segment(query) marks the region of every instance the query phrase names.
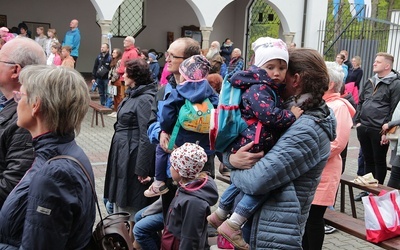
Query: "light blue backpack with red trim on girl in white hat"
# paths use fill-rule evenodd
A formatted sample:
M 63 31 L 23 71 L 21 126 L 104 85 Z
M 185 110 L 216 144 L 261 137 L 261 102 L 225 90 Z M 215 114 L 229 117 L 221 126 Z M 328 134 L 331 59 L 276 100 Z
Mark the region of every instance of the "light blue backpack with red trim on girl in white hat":
M 235 88 L 225 75 L 217 109 L 211 113 L 210 148 L 218 152 L 225 149 L 247 128 L 242 118 L 239 104 L 242 100 L 241 89 Z

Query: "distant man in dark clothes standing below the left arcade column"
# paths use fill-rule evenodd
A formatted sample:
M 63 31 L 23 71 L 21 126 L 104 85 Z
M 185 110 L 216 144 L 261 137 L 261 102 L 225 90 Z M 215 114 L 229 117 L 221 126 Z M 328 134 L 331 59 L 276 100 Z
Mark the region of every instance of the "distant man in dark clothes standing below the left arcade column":
M 97 83 L 100 95 L 100 104 L 105 106 L 107 101 L 108 72 L 110 71 L 110 46 L 103 43 L 100 47 L 100 54 L 94 62 L 92 71 L 92 84 Z

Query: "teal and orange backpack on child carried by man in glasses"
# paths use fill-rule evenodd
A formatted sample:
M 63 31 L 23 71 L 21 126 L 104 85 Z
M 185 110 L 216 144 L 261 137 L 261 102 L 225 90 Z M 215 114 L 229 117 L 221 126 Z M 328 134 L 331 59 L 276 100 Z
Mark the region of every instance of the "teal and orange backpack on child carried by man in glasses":
M 174 148 L 175 140 L 181 127 L 187 131 L 208 134 L 210 132 L 211 112 L 213 109 L 214 106 L 208 98 L 204 99 L 202 103 L 192 103 L 186 99 L 185 104 L 179 110 L 168 149 L 172 150 Z

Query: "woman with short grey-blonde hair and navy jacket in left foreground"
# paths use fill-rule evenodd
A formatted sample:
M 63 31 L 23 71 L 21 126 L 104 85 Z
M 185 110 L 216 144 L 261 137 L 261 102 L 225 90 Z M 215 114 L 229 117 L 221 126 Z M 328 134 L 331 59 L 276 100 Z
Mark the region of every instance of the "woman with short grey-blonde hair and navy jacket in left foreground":
M 0 248 L 82 249 L 95 221 L 94 176 L 75 142 L 89 107 L 89 90 L 74 69 L 26 66 L 14 91 L 17 125 L 33 137 L 36 158 L 0 211 Z M 13 247 L 11 247 L 13 246 Z

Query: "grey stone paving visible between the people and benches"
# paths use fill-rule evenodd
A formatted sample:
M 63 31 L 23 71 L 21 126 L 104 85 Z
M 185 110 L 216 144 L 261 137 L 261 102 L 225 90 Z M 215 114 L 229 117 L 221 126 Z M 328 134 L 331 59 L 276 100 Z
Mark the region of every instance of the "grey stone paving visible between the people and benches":
M 94 125 L 94 127 L 91 127 L 92 112 L 93 110 L 90 108 L 82 124 L 81 132 L 76 138 L 76 141 L 84 149 L 84 151 L 86 152 L 92 163 L 96 178 L 95 180 L 96 191 L 99 198 L 100 207 L 102 210 L 102 215 L 105 216 L 106 211 L 102 203 L 103 187 L 104 187 L 105 171 L 107 166 L 108 151 L 114 133 L 113 125 L 116 121 L 116 118 L 104 115 L 105 127 L 102 127 L 101 123 L 99 124 L 99 126 Z M 357 140 L 356 131 L 355 129 L 352 129 L 345 173 L 353 176 L 356 176 L 357 172 L 358 150 L 359 150 L 359 143 Z M 218 167 L 218 164 L 216 164 L 216 167 Z M 216 173 L 217 172 L 218 170 L 216 170 Z M 390 173 L 388 172 L 388 174 Z M 386 177 L 386 181 L 388 178 L 389 176 Z M 219 180 L 217 180 L 217 184 L 219 192 L 220 194 L 222 194 L 222 192 L 227 187 L 227 184 L 222 183 Z M 358 194 L 357 190 L 355 190 L 354 192 L 355 195 Z M 348 203 L 349 199 L 346 198 L 346 201 Z M 362 204 L 361 202 L 358 202 L 356 205 L 357 205 L 358 217 L 362 218 L 364 213 Z M 340 204 L 338 197 L 338 202 L 336 203 L 337 209 L 339 209 L 339 206 Z M 350 204 L 346 204 L 346 213 L 350 214 Z M 382 249 L 382 248 L 337 230 L 334 233 L 325 236 L 323 249 L 370 250 L 370 249 Z

